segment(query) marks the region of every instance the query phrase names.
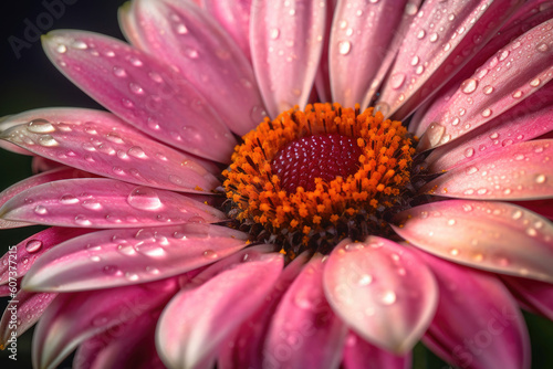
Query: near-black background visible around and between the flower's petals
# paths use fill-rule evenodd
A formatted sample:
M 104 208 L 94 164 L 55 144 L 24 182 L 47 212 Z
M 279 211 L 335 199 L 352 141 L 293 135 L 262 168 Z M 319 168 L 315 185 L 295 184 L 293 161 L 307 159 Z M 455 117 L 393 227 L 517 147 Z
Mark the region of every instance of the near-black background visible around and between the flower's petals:
M 117 25 L 117 8 L 124 0 L 15 0 L 3 1 L 0 9 L 0 117 L 23 110 L 48 106 L 100 106 L 73 86 L 52 66 L 42 52 L 32 24 L 42 33 L 54 29 L 81 29 L 123 39 Z M 55 9 L 46 4 L 63 4 Z M 25 33 L 27 32 L 27 33 Z M 15 40 L 15 38 L 18 40 Z M 25 48 L 15 51 L 10 44 L 24 42 Z M 27 48 L 28 46 L 28 48 Z M 18 55 L 19 53 L 19 55 Z M 0 189 L 31 173 L 30 159 L 0 149 Z M 15 229 L 0 232 L 0 252 L 30 236 L 32 230 Z M 6 298 L 1 299 L 6 304 Z M 532 368 L 553 368 L 553 324 L 525 314 L 532 339 Z M 459 317 L 462 319 L 462 317 Z M 18 341 L 18 361 L 8 359 L 9 351 L 0 351 L 0 368 L 31 368 L 31 333 Z M 71 361 L 60 368 L 69 368 Z M 449 368 L 429 354 L 422 346 L 416 348 L 416 368 Z

